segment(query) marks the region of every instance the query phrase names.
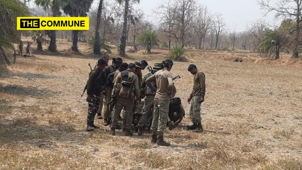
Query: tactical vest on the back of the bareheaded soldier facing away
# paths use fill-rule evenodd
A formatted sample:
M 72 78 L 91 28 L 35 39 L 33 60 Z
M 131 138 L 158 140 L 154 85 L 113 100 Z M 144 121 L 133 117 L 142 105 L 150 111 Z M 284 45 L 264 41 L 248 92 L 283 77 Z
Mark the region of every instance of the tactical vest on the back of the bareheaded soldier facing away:
M 122 71 L 121 74 L 125 72 Z M 126 70 L 126 72 L 128 72 Z M 122 74 L 123 75 L 123 74 Z M 135 94 L 134 94 L 134 79 L 137 77 L 136 74 L 133 72 L 128 72 L 128 76 L 121 76 L 122 79 L 122 87 L 120 88 L 120 93 L 118 96 L 124 97 L 124 98 L 129 98 L 129 99 L 134 99 Z

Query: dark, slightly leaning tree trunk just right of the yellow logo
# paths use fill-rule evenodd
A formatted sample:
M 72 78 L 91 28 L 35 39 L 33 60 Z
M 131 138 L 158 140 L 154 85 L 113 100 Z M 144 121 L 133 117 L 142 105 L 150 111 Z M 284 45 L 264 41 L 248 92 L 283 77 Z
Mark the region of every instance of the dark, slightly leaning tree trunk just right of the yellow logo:
M 101 54 L 100 47 L 100 25 L 101 25 L 101 14 L 102 14 L 103 0 L 100 0 L 98 5 L 98 14 L 96 17 L 95 25 L 95 44 L 93 45 L 93 54 Z

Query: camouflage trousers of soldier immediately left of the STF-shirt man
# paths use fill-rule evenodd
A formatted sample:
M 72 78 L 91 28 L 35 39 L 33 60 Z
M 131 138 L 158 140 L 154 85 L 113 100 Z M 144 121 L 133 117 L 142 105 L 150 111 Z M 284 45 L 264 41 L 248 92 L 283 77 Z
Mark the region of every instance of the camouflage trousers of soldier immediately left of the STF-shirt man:
M 143 113 L 138 123 L 138 126 L 141 128 L 146 128 L 149 125 L 150 117 L 152 117 L 151 110 L 154 107 L 154 97 L 155 95 L 146 95 Z

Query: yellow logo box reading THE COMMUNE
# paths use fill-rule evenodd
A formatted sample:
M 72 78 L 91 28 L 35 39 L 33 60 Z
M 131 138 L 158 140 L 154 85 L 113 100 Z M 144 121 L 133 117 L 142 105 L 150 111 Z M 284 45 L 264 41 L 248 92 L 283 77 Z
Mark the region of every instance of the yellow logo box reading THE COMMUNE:
M 17 17 L 17 30 L 89 30 L 89 17 Z

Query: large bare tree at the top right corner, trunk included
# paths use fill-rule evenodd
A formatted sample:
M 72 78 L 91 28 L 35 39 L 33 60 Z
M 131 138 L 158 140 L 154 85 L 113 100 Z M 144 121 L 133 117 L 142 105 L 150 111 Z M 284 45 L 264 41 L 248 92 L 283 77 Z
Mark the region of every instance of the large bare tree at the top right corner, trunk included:
M 269 0 L 258 0 L 258 4 L 264 10 L 264 14 L 267 15 L 271 11 L 275 11 L 275 18 L 291 19 L 296 21 L 295 26 L 295 44 L 293 50 L 293 57 L 298 58 L 299 54 L 299 37 L 300 37 L 300 21 L 301 21 L 301 10 L 302 0 L 278 0 L 274 6 L 269 4 Z

